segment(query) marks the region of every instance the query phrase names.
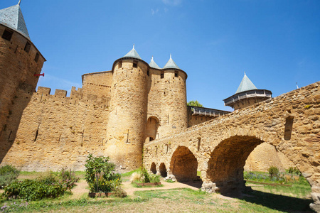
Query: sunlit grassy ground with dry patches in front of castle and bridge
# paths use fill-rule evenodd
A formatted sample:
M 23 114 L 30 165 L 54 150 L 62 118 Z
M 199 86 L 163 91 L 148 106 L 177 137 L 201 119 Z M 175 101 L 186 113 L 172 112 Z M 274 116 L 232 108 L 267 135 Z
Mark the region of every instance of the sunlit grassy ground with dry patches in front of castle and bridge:
M 38 175 L 41 173 L 21 173 L 18 179 Z M 77 175 L 83 178 L 84 173 Z M 123 176 L 129 179 L 130 174 Z M 252 185 L 253 191 L 240 198 L 186 188 L 161 190 L 161 187 L 150 187 L 150 190 L 136 191 L 126 198 L 89 198 L 83 191 L 77 196 L 68 192 L 58 199 L 35 202 L 2 199 L 0 212 L 311 212 L 309 203 L 312 200 L 305 185 L 248 184 Z

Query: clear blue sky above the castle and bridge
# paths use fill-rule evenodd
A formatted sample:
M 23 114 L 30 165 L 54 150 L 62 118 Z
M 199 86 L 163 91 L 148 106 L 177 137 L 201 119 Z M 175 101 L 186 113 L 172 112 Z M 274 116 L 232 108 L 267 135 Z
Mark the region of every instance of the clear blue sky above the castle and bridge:
M 1 0 L 0 9 L 18 0 Z M 172 58 L 187 99 L 230 110 L 244 72 L 273 97 L 320 80 L 320 1 L 22 0 L 31 40 L 48 60 L 38 86 L 70 91 L 111 70 L 135 44 L 146 62 Z M 68 92 L 68 95 L 70 93 Z

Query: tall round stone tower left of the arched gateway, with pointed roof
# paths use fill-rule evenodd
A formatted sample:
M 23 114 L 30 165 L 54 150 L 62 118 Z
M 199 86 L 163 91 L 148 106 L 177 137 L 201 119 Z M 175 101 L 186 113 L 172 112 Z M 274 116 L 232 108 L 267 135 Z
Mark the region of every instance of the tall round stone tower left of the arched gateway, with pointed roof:
M 110 116 L 106 153 L 122 168 L 142 166 L 149 65 L 133 48 L 112 67 Z

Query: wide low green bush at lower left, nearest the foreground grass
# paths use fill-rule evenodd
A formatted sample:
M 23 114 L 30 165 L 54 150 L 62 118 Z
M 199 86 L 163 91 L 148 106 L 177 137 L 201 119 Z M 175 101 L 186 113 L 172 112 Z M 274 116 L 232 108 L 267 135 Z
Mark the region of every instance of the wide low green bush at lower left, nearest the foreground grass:
M 59 197 L 65 190 L 66 188 L 59 182 L 47 184 L 45 181 L 27 179 L 4 187 L 3 195 L 6 199 L 41 200 L 46 197 Z

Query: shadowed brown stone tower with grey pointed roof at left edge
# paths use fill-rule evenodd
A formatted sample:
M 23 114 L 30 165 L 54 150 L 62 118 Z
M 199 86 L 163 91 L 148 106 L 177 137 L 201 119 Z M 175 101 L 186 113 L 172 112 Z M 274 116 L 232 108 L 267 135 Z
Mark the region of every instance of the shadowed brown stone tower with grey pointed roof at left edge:
M 0 10 L 0 162 L 46 61 L 30 39 L 20 3 Z

